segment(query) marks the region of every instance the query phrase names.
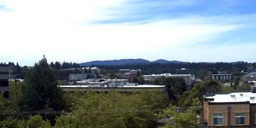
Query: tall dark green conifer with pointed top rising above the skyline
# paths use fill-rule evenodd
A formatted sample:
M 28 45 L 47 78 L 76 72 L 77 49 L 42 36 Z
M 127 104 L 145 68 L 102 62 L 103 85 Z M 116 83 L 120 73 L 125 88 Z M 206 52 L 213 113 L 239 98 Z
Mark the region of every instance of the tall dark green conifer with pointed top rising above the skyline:
M 63 92 L 57 87 L 57 81 L 46 58 L 35 63 L 25 77 L 20 97 L 22 111 L 61 111 Z

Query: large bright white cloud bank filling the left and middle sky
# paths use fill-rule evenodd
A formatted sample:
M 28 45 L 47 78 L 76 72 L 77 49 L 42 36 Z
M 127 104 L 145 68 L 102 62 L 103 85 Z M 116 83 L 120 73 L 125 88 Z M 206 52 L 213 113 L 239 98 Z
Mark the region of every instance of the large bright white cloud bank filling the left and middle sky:
M 46 54 L 49 61 L 77 62 L 162 58 L 159 55 L 168 54 L 168 50 L 208 41 L 241 27 L 240 24 L 221 25 L 218 20 L 202 24 L 202 20 L 208 19 L 201 17 L 137 25 L 88 24 L 113 18 L 110 15 L 113 11 L 107 8 L 130 7 L 124 5 L 126 2 L 8 1 L 6 7 L 14 12 L 0 12 L 1 47 L 5 48 L 0 51 L 0 57 L 8 56 L 6 61 L 19 61 L 21 65 L 33 65 L 42 54 Z

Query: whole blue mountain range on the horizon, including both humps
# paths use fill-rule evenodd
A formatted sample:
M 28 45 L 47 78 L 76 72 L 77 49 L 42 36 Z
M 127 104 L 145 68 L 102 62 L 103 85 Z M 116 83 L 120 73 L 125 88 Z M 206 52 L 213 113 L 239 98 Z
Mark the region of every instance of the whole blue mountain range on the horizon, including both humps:
M 186 63 L 177 60 L 168 61 L 165 59 L 158 59 L 155 61 L 148 61 L 145 59 L 119 59 L 119 60 L 96 60 L 90 62 L 81 63 L 82 66 L 92 66 L 92 65 L 106 65 L 106 66 L 118 66 L 118 65 L 131 65 L 131 64 L 141 64 L 141 63 Z

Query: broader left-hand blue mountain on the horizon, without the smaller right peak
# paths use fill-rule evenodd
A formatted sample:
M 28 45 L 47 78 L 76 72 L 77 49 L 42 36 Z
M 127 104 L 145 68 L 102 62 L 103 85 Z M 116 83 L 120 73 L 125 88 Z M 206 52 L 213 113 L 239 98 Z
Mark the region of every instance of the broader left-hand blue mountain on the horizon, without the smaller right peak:
M 96 60 L 90 62 L 81 63 L 82 66 L 92 66 L 92 65 L 106 65 L 106 66 L 118 66 L 118 65 L 129 65 L 129 64 L 139 64 L 139 63 L 150 63 L 150 61 L 145 59 L 119 59 L 119 60 Z

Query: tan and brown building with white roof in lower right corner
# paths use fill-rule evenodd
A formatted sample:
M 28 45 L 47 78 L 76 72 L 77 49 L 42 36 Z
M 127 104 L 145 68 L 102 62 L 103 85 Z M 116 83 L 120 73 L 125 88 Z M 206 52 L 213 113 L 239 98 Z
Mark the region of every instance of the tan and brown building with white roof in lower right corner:
M 208 127 L 256 127 L 256 87 L 251 92 L 203 96 L 203 122 Z

